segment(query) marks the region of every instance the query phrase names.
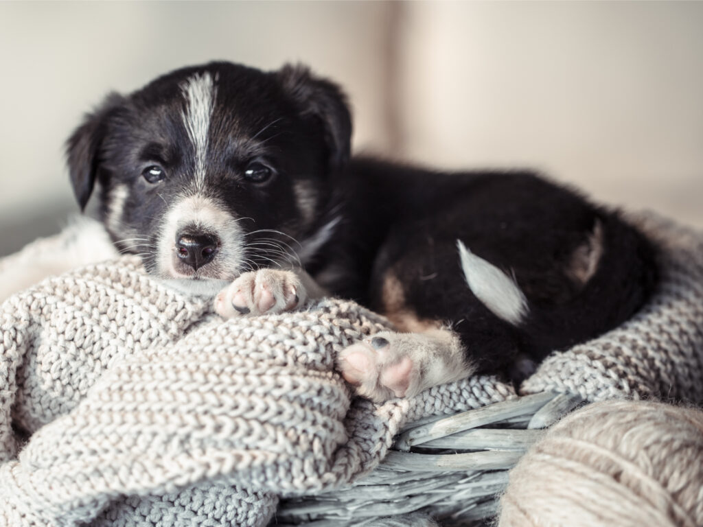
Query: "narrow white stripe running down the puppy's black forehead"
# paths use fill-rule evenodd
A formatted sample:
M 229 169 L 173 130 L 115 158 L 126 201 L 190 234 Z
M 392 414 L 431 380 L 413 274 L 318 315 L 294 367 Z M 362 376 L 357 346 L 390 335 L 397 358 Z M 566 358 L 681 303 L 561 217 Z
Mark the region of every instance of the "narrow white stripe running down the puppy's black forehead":
M 181 84 L 183 95 L 186 96 L 186 115 L 183 123 L 186 125 L 188 137 L 191 138 L 195 149 L 195 188 L 202 190 L 205 183 L 205 155 L 207 154 L 207 136 L 210 128 L 210 117 L 214 105 L 214 79 L 209 73 L 198 73 Z

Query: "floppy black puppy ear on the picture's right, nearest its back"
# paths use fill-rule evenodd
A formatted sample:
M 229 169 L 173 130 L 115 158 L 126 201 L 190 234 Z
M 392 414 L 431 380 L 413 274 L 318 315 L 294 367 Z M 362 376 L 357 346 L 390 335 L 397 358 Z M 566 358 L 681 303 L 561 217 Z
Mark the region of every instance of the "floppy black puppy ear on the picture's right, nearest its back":
M 352 140 L 352 115 L 347 97 L 337 84 L 314 77 L 303 65 L 283 66 L 278 71 L 283 89 L 301 108 L 302 115 L 321 120 L 328 147 L 329 168 L 342 167 L 349 160 Z

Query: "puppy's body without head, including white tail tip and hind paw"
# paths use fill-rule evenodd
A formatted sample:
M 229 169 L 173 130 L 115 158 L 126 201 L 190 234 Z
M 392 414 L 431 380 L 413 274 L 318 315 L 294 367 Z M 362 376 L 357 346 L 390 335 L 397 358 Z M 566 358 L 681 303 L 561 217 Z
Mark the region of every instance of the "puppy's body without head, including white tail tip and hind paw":
M 440 174 L 352 160 L 337 186 L 343 221 L 325 259 L 309 270 L 399 329 L 434 335 L 432 344 L 416 343 L 434 350 L 425 370 L 442 360 L 437 346 L 460 349 L 465 362 L 445 354 L 437 382 L 505 371 L 519 355 L 538 363 L 602 334 L 636 311 L 654 281 L 652 248 L 636 230 L 531 172 Z M 378 376 L 354 369 L 397 364 L 404 353 L 396 341 L 423 355 L 406 338 L 382 337 L 387 344 L 372 340 L 343 353 L 355 356 L 342 370 L 372 398 L 412 392 L 403 375 L 390 375 L 385 391 Z

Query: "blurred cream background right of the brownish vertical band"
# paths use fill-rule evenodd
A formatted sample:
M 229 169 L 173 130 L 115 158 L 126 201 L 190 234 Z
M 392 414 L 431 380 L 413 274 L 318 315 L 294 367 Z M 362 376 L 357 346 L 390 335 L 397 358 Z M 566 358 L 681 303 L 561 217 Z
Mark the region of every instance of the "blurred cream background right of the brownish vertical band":
M 703 226 L 702 2 L 415 2 L 400 27 L 400 157 Z

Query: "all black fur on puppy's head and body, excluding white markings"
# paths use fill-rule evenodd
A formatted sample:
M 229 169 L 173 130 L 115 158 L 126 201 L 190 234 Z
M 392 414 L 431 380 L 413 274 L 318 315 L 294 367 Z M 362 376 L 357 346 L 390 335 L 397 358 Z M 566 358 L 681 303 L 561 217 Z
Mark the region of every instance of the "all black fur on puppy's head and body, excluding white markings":
M 110 96 L 68 143 L 79 204 L 98 181 L 103 218 L 117 218 L 108 222 L 117 247 L 141 254 L 152 273 L 166 274 L 156 254 L 165 214 L 192 192 L 196 154 L 183 124 L 183 82 L 205 72 L 216 79 L 217 96 L 202 192 L 246 233 L 243 261 L 250 266 L 280 257 L 262 245 L 266 240 L 305 253 L 334 226 L 303 262 L 311 275 L 335 295 L 385 311 L 383 282 L 394 273 L 404 308 L 450 324 L 483 371 L 503 369 L 520 352 L 540 360 L 595 337 L 635 313 L 652 290 L 654 249 L 618 214 L 529 171 L 443 174 L 349 161 L 351 118 L 335 84 L 304 67 L 260 72 L 228 63 L 184 68 L 131 96 Z M 269 181 L 247 181 L 252 162 L 271 169 Z M 145 180 L 152 165 L 165 170 L 164 181 Z M 110 212 L 117 186 L 127 188 L 119 214 Z M 569 276 L 569 262 L 597 225 L 602 257 L 581 284 Z M 529 301 L 526 320 L 507 323 L 472 294 L 458 239 L 514 273 Z M 188 273 L 235 278 L 209 268 Z

